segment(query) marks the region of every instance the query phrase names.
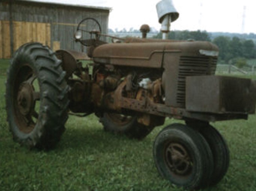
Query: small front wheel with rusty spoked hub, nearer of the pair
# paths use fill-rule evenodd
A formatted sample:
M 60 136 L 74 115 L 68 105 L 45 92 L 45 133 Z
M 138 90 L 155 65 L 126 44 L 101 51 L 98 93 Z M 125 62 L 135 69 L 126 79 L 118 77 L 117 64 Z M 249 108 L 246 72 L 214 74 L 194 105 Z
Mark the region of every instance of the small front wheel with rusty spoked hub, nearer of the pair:
M 213 156 L 205 139 L 182 124 L 164 128 L 154 142 L 154 161 L 160 175 L 189 190 L 208 185 Z

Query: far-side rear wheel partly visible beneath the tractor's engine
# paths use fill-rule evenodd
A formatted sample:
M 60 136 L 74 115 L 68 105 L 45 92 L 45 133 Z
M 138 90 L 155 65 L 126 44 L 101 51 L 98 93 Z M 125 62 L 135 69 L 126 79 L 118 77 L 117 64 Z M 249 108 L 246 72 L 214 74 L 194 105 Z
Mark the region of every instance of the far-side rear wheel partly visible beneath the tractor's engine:
M 145 126 L 138 123 L 136 116 L 121 115 L 118 113 L 104 113 L 100 119 L 105 131 L 119 135 L 126 135 L 130 138 L 142 139 L 146 137 L 153 126 Z

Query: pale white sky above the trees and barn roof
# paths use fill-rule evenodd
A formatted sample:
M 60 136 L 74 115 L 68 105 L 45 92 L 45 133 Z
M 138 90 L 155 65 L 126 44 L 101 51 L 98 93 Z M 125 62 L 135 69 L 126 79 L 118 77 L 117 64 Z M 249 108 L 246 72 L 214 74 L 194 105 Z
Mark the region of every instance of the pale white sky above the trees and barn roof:
M 109 28 L 139 29 L 148 24 L 159 30 L 156 4 L 160 0 L 41 0 L 111 7 Z M 255 0 L 173 0 L 180 17 L 171 30 L 256 33 Z

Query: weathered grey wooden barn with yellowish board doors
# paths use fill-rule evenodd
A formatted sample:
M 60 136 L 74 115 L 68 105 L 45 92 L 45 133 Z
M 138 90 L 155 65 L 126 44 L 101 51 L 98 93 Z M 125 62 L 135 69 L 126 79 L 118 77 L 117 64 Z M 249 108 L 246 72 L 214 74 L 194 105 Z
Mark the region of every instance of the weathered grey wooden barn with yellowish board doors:
M 40 0 L 0 1 L 0 58 L 10 58 L 27 42 L 40 42 L 53 50 L 83 51 L 74 41 L 78 23 L 95 18 L 102 32 L 108 31 L 109 7 L 94 7 Z

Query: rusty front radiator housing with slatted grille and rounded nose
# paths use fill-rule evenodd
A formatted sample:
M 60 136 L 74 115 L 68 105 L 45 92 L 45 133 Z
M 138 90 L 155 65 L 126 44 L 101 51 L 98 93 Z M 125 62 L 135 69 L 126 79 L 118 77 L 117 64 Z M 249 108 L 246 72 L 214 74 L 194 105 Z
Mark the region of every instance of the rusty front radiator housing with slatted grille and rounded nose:
M 217 57 L 202 55 L 200 50 L 219 50 L 213 44 L 204 42 L 180 43 L 180 46 L 180 52 L 165 51 L 162 85 L 167 92 L 166 105 L 185 108 L 186 76 L 214 75 L 216 70 Z

